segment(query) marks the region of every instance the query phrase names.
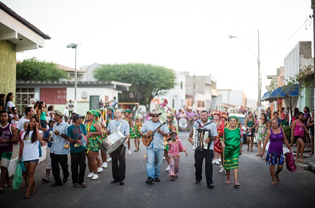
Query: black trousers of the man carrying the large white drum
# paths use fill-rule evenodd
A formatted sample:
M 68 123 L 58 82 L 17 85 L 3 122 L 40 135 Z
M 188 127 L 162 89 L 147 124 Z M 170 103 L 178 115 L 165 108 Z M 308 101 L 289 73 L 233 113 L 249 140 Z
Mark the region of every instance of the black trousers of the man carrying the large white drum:
M 123 150 L 122 150 L 123 149 Z M 122 151 L 122 154 L 120 155 Z M 112 174 L 115 181 L 123 181 L 126 172 L 126 149 L 120 145 L 114 152 L 112 152 Z M 118 164 L 119 161 L 119 164 Z

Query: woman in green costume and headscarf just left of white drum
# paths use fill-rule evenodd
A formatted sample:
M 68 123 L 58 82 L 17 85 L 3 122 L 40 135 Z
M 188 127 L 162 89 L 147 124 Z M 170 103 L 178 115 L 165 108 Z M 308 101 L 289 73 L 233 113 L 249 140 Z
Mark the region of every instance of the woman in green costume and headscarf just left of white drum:
M 87 112 L 87 158 L 90 170 L 87 178 L 92 178 L 92 180 L 96 180 L 99 178 L 97 156 L 99 154 L 100 144 L 103 142 L 102 127 L 101 124 L 97 122 L 97 117 L 98 112 L 96 110 L 90 110 Z

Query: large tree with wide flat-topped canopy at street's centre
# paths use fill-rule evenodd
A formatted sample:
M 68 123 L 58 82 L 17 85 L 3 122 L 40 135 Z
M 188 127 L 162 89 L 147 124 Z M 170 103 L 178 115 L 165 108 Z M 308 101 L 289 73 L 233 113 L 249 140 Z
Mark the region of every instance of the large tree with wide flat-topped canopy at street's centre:
M 175 85 L 175 74 L 169 68 L 144 63 L 105 64 L 94 71 L 98 81 L 131 83 L 129 91 L 119 94 L 119 101 L 139 102 L 149 109 L 151 99 Z

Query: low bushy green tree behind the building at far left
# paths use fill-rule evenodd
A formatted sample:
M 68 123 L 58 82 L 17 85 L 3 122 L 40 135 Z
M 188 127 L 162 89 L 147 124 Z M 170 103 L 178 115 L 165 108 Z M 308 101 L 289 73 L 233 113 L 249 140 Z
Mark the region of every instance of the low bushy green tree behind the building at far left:
M 58 81 L 67 79 L 67 72 L 60 70 L 53 62 L 29 58 L 16 64 L 16 79 L 23 81 Z

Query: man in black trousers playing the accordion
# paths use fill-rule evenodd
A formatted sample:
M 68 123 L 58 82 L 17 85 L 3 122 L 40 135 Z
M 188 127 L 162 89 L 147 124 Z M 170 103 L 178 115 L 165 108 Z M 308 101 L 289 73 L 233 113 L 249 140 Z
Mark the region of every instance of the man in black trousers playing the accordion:
M 217 130 L 216 130 L 216 125 L 215 122 L 210 121 L 208 119 L 208 112 L 207 111 L 202 111 L 200 114 L 200 119 L 197 120 L 193 127 L 197 128 L 205 128 L 207 130 L 210 130 L 211 135 L 212 135 L 212 141 L 215 140 L 217 136 Z M 188 141 L 194 145 L 194 128 L 190 132 L 188 136 Z M 209 137 L 205 140 L 205 143 L 209 143 L 210 139 Z M 202 179 L 202 163 L 203 163 L 203 158 L 206 160 L 206 180 L 207 180 L 207 187 L 208 188 L 214 188 L 213 181 L 212 181 L 212 158 L 213 158 L 213 142 L 211 142 L 210 148 L 208 150 L 196 150 L 195 151 L 195 176 L 196 176 L 196 181 L 195 184 L 199 184 L 201 179 Z

